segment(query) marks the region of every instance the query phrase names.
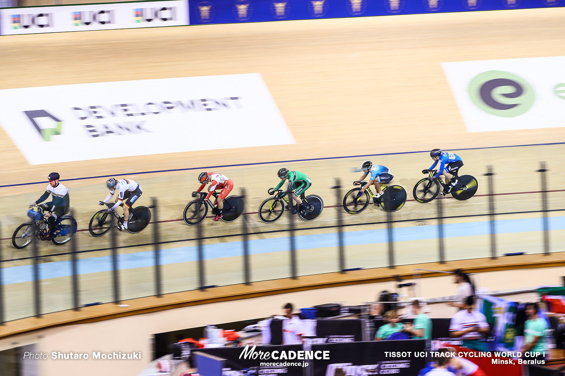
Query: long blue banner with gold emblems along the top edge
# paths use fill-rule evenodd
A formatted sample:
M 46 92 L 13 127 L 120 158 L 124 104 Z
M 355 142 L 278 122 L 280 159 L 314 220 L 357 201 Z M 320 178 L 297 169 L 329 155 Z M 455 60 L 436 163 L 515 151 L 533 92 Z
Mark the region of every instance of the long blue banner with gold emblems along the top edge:
M 189 0 L 190 24 L 545 8 L 565 0 Z

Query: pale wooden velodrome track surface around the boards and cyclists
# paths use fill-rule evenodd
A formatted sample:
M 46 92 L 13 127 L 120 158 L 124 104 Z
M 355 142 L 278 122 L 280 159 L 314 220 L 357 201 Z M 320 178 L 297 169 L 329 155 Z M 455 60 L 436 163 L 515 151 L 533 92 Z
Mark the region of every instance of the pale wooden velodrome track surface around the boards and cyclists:
M 270 161 L 321 159 L 295 163 L 273 163 L 220 168 L 218 172 L 232 178 L 236 193 L 246 187 L 246 212 L 257 212 L 267 197 L 268 187 L 276 184 L 276 170 L 282 165 L 302 170 L 314 184 L 308 193 L 323 197 L 327 207 L 315 222 L 301 222 L 298 235 L 333 233 L 335 229 L 318 229 L 335 224 L 336 204 L 334 178 L 342 182 L 360 175 L 363 157 L 324 159 L 338 156 L 387 154 L 372 156 L 373 163 L 390 167 L 395 182 L 405 187 L 408 198 L 419 180 L 420 170 L 428 168 L 427 153 L 394 154 L 458 148 L 526 145 L 565 142 L 563 128 L 468 133 L 463 125 L 440 63 L 462 60 L 529 58 L 563 55 L 565 9 L 510 10 L 469 12 L 462 14 L 427 14 L 379 18 L 285 21 L 260 24 L 204 25 L 136 30 L 58 33 L 0 38 L 0 89 L 31 86 L 80 84 L 150 78 L 261 73 L 279 106 L 297 143 L 295 145 L 256 147 L 246 150 L 225 142 L 224 150 L 135 156 L 131 158 L 95 159 L 55 165 L 28 165 L 18 148 L 0 129 L 2 185 L 44 181 L 56 170 L 63 179 L 113 174 L 130 177 L 144 187 L 140 204 L 149 204 L 151 196 L 159 198 L 161 238 L 166 241 L 193 239 L 195 229 L 179 221 L 190 193 L 198 186 L 199 170 L 176 173 L 139 174 L 153 170 L 254 164 Z M 269 126 L 266 124 L 265 126 Z M 211 139 L 215 137 L 210 134 Z M 186 140 L 186 142 L 202 142 Z M 116 147 L 120 147 L 116 143 Z M 46 151 L 48 152 L 48 151 Z M 56 151 L 55 151 L 56 152 Z M 562 198 L 563 145 L 523 146 L 462 150 L 465 166 L 462 173 L 479 178 L 477 196 L 468 202 L 445 200 L 445 214 L 450 216 L 486 213 L 488 193 L 486 165 L 498 173 L 494 178 L 499 212 L 532 211 L 541 208 L 538 161 L 547 160 L 550 168 L 550 208 L 564 208 Z M 79 229 L 99 209 L 95 204 L 106 195 L 106 178 L 66 182 Z M 2 238 L 4 259 L 31 256 L 31 250 L 18 251 L 10 246 L 15 227 L 25 220 L 26 204 L 33 202 L 46 183 L 0 188 L 3 208 Z M 395 213 L 395 220 L 407 228 L 434 225 L 436 221 L 416 222 L 418 218 L 436 215 L 434 204 L 408 202 Z M 551 214 L 560 216 L 560 212 Z M 504 219 L 537 218 L 539 213 L 504 216 Z M 262 224 L 251 214 L 251 231 L 261 232 L 287 228 L 288 219 L 273 225 Z M 502 218 L 501 218 L 502 219 Z M 346 215 L 349 224 L 380 222 L 384 212 L 370 207 L 358 216 Z M 410 221 L 414 220 L 414 221 Z M 479 222 L 485 217 L 453 218 L 446 223 Z M 383 224 L 351 226 L 347 231 L 383 229 Z M 237 234 L 241 223 L 215 223 L 207 220 L 206 236 Z M 433 228 L 430 228 L 430 231 Z M 251 239 L 284 237 L 266 233 Z M 355 237 L 355 234 L 351 234 Z M 366 237 L 367 235 L 359 235 Z M 437 260 L 435 233 L 429 239 L 398 242 L 396 264 L 415 264 Z M 110 239 L 92 238 L 88 231 L 78 234 L 80 250 L 107 248 Z M 288 242 L 279 238 L 280 242 Z M 541 251 L 541 234 L 537 228 L 521 233 L 499 235 L 499 252 Z M 207 244 L 240 241 L 236 238 L 209 239 Z M 327 240 L 327 239 L 326 239 Z M 319 245 L 301 248 L 298 254 L 299 274 L 327 273 L 337 270 L 336 241 L 320 240 Z M 151 231 L 138 235 L 120 234 L 119 245 L 149 243 Z M 551 231 L 552 250 L 562 249 L 563 231 Z M 316 241 L 314 240 L 314 243 Z M 388 265 L 383 239 L 368 237 L 358 246 L 347 246 L 347 268 L 376 268 Z M 194 241 L 164 244 L 163 249 L 194 246 Z M 300 244 L 298 244 L 300 247 Z M 236 244 L 237 246 L 237 244 Z M 210 248 L 214 252 L 219 248 Z M 151 251 L 151 246 L 122 248 L 120 253 Z M 43 242 L 42 255 L 68 252 L 68 246 L 56 247 Z M 195 252 L 193 248 L 176 250 Z M 468 235 L 446 239 L 447 260 L 490 255 L 488 235 Z M 220 252 L 221 253 L 221 252 Z M 220 254 L 219 253 L 219 254 Z M 253 281 L 288 277 L 288 251 L 258 253 L 252 256 Z M 82 253 L 81 259 L 107 256 L 109 251 Z M 191 253 L 192 254 L 192 253 Z M 136 255 L 132 255 L 137 257 Z M 206 261 L 207 285 L 241 283 L 240 256 L 220 257 Z M 68 260 L 68 255 L 46 257 L 46 263 Z M 108 261 L 106 259 L 104 263 Z M 3 263 L 4 268 L 29 265 L 31 261 Z M 101 261 L 102 262 L 102 261 Z M 59 264 L 58 264 L 59 265 Z M 65 268 L 68 268 L 68 264 Z M 194 261 L 163 266 L 165 292 L 190 290 L 197 286 Z M 29 271 L 27 272 L 29 273 Z M 153 270 L 149 266 L 121 272 L 123 299 L 153 294 Z M 49 278 L 48 275 L 42 276 Z M 6 277 L 5 277 L 6 278 Z M 50 278 L 42 284 L 46 296 L 44 311 L 70 308 L 69 277 Z M 9 283 L 9 282 L 8 282 Z M 7 285 L 7 319 L 31 316 L 31 282 Z M 111 301 L 109 272 L 81 275 L 81 303 Z

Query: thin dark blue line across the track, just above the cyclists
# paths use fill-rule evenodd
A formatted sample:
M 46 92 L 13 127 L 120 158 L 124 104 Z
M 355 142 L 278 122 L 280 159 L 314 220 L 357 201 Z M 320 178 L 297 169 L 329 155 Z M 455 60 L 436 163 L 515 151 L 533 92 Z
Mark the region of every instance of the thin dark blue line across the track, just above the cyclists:
M 546 145 L 564 145 L 564 144 L 565 144 L 565 142 L 548 142 L 548 143 L 532 143 L 532 144 L 527 144 L 527 145 L 467 147 L 467 148 L 450 149 L 450 150 L 453 150 L 453 151 L 458 151 L 458 150 L 480 150 L 480 149 L 496 149 L 496 148 L 501 148 L 501 147 L 525 147 L 525 146 L 546 146 Z M 218 166 L 190 167 L 190 168 L 177 168 L 177 169 L 171 169 L 171 170 L 155 170 L 155 171 L 144 171 L 144 172 L 132 172 L 131 175 L 155 174 L 155 173 L 160 173 L 160 172 L 189 171 L 189 170 L 201 170 L 201 169 L 224 168 L 224 167 L 255 166 L 255 165 L 275 164 L 275 163 L 307 162 L 307 161 L 313 161 L 313 160 L 331 160 L 331 159 L 347 159 L 347 158 L 365 158 L 365 157 L 380 156 L 380 155 L 417 154 L 417 153 L 424 153 L 424 152 L 428 152 L 428 151 L 427 151 L 427 150 L 421 150 L 421 151 L 401 151 L 401 152 L 395 152 L 395 153 L 382 153 L 382 154 L 349 155 L 349 156 L 326 157 L 326 158 L 279 160 L 279 161 L 272 161 L 272 162 L 225 164 L 225 165 L 218 165 Z M 60 180 L 60 181 L 75 181 L 75 180 L 98 179 L 98 178 L 105 178 L 105 177 L 114 177 L 114 176 L 116 176 L 116 175 L 119 175 L 119 174 L 100 175 L 100 176 L 89 176 L 89 177 L 81 177 L 81 178 L 74 178 L 74 179 L 62 179 L 62 180 Z M 33 182 L 33 183 L 8 184 L 8 185 L 0 185 L 0 188 L 18 187 L 18 186 L 23 186 L 23 185 L 44 184 L 44 183 L 45 183 L 45 181 L 36 181 L 36 182 Z

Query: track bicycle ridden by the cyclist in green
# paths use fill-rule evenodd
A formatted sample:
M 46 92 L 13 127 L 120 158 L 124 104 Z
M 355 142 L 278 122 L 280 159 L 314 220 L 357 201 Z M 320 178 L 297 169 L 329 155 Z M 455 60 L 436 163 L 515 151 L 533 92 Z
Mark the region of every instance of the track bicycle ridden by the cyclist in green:
M 282 217 L 282 213 L 284 213 L 285 209 L 290 208 L 290 202 L 286 195 L 284 195 L 286 192 L 282 191 L 282 189 L 270 188 L 268 193 L 273 193 L 274 196 L 261 203 L 258 215 L 261 221 L 273 223 Z M 298 217 L 303 221 L 315 220 L 324 209 L 324 201 L 318 195 L 307 195 L 305 197 L 304 194 L 301 194 L 300 198 L 303 203 L 308 205 L 308 208 L 304 213 L 298 212 Z

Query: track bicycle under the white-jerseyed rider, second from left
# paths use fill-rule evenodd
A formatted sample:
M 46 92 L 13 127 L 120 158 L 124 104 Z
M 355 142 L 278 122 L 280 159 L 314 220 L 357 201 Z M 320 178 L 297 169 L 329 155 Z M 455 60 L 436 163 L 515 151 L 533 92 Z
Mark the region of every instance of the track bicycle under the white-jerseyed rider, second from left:
M 120 206 L 122 206 L 120 204 Z M 112 226 L 114 225 L 114 218 L 117 218 L 118 224 L 124 223 L 124 218 L 118 214 L 115 210 L 110 211 L 110 208 L 114 206 L 113 203 L 106 203 L 108 209 L 102 209 L 95 213 L 90 219 L 88 224 L 88 231 L 93 237 L 101 237 L 102 235 L 108 233 Z M 137 206 L 135 208 L 129 208 L 128 217 L 128 228 L 126 229 L 129 233 L 137 234 L 143 231 L 149 222 L 151 221 L 151 211 L 146 206 Z M 121 231 L 121 227 L 118 226 Z

